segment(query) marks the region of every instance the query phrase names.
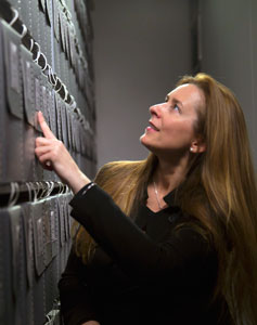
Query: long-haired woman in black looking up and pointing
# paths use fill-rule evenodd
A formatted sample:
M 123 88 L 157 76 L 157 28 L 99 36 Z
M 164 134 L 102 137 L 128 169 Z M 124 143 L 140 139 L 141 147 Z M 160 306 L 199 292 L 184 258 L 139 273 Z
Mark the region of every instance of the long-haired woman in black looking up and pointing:
M 98 185 L 39 114 L 36 154 L 75 193 L 81 224 L 60 281 L 64 323 L 257 324 L 256 182 L 237 101 L 198 74 L 150 113 L 149 158 L 107 164 Z

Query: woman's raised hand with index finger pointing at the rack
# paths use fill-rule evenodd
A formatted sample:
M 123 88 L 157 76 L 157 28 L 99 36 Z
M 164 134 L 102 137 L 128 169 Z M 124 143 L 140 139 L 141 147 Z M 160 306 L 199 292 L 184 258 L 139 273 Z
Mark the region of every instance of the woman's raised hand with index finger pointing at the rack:
M 74 193 L 90 183 L 90 180 L 81 172 L 68 151 L 57 140 L 47 125 L 41 112 L 38 113 L 38 121 L 44 138 L 36 139 L 35 153 L 42 167 L 54 170 L 60 179 L 67 184 Z

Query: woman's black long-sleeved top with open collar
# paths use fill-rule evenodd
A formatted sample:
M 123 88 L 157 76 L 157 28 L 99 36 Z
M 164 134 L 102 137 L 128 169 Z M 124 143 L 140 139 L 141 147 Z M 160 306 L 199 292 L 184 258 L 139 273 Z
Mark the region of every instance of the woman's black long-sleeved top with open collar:
M 141 205 L 134 222 L 98 185 L 75 195 L 72 216 L 98 243 L 87 265 L 72 249 L 60 281 L 65 325 L 229 324 L 211 303 L 218 260 L 214 246 L 174 204 L 151 211 Z M 178 229 L 178 225 L 181 225 Z

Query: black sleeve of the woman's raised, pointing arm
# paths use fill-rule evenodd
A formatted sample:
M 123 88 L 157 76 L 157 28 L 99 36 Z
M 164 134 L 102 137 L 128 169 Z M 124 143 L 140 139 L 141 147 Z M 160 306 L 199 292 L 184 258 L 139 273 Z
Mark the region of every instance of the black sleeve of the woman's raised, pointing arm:
M 206 242 L 190 226 L 171 233 L 165 243 L 154 243 L 98 185 L 81 188 L 70 206 L 72 216 L 129 275 L 145 280 L 175 271 L 187 274 L 206 257 Z

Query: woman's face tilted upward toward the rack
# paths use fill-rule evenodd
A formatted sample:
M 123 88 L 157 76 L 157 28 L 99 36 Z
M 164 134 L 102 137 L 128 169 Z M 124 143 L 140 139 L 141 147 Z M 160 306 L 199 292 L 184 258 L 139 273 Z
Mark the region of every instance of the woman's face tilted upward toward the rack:
M 204 94 L 195 84 L 179 86 L 168 93 L 166 101 L 150 107 L 150 125 L 140 138 L 154 154 L 183 153 L 197 147 L 194 123 L 196 109 L 204 104 Z

